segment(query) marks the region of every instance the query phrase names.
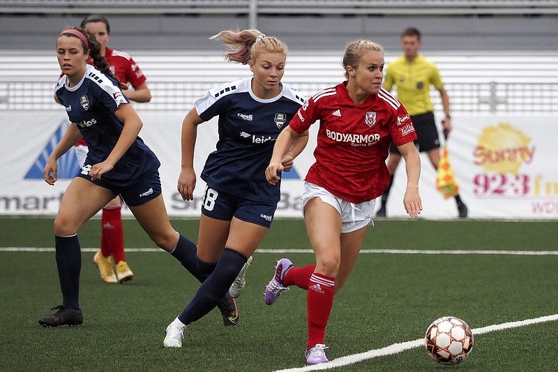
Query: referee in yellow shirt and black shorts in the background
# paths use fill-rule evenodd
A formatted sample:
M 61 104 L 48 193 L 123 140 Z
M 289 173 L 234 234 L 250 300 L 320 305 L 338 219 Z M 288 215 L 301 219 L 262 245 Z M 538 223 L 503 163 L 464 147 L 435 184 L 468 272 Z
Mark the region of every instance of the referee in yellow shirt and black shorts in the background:
M 446 89 L 444 89 L 442 77 L 440 77 L 437 66 L 428 61 L 428 59 L 418 55 L 418 50 L 421 47 L 421 31 L 414 28 L 403 31 L 401 34 L 401 48 L 405 54 L 387 66 L 384 88 L 391 91 L 393 85 L 397 87 L 398 99 L 411 115 L 416 135 L 418 136 L 418 139 L 415 141 L 418 151 L 426 152 L 428 158 L 430 158 L 430 163 L 432 163 L 435 169 L 438 169 L 440 141 L 434 120 L 434 105 L 432 105 L 430 100 L 430 85 L 440 92 L 442 98 L 442 106 L 446 114 L 446 119 L 443 121 L 444 135 L 446 137 L 451 131 L 449 96 Z M 393 173 L 395 173 L 400 160 L 401 154 L 392 143 L 389 149 L 387 164 L 389 174 L 391 174 L 391 183 L 393 183 Z M 384 195 L 382 195 L 382 207 L 377 212 L 377 217 L 386 216 L 386 204 L 391 183 Z M 458 215 L 461 218 L 467 217 L 467 206 L 462 202 L 459 194 L 455 195 L 455 202 L 457 202 Z

